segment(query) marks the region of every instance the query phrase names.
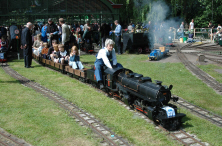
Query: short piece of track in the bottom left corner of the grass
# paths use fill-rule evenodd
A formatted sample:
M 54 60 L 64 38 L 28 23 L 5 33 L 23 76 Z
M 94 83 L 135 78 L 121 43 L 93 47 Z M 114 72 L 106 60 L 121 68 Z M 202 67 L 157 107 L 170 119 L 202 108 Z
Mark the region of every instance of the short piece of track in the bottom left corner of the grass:
M 0 128 L 0 146 L 31 146 Z

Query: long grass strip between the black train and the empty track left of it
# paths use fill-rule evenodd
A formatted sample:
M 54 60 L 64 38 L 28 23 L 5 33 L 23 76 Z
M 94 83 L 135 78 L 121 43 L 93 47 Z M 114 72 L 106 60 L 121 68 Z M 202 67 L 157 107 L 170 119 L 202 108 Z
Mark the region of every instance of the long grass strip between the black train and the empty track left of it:
M 22 61 L 22 60 L 21 60 Z M 30 80 L 56 91 L 64 98 L 92 113 L 113 131 L 126 137 L 135 145 L 178 145 L 164 133 L 148 124 L 116 101 L 98 93 L 96 89 L 60 73 L 33 63 L 34 68 L 26 69 L 23 62 L 10 62 L 10 66 Z

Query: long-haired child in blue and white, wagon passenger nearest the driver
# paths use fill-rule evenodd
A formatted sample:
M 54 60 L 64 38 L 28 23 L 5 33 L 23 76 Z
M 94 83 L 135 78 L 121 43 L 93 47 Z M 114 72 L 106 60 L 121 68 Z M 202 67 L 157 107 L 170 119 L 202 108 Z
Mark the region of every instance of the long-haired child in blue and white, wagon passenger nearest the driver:
M 72 66 L 73 69 L 84 69 L 82 62 L 79 59 L 79 51 L 76 46 L 72 47 L 69 57 L 69 66 Z

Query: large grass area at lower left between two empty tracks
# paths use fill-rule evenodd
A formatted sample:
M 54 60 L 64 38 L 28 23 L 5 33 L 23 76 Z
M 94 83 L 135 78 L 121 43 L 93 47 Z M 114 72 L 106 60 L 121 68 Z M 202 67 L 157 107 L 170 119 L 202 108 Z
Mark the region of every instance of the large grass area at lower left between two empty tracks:
M 0 127 L 32 145 L 98 145 L 54 102 L 22 86 L 0 68 Z M 15 90 L 16 89 L 16 90 Z

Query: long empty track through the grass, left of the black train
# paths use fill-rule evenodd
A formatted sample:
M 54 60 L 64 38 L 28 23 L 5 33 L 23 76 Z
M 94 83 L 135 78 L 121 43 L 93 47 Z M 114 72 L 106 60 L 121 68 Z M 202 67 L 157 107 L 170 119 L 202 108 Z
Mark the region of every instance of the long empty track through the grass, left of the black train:
M 3 66 L 3 69 L 7 74 L 12 76 L 13 78 L 20 81 L 20 83 L 26 87 L 34 89 L 36 92 L 41 93 L 42 95 L 48 97 L 49 99 L 58 103 L 62 108 L 67 110 L 69 114 L 75 118 L 80 125 L 88 126 L 92 129 L 100 138 L 102 138 L 102 143 L 104 145 L 130 145 L 126 140 L 123 138 L 115 135 L 110 129 L 104 126 L 101 122 L 94 118 L 94 116 L 90 115 L 89 113 L 85 112 L 84 110 L 80 109 L 73 103 L 70 103 L 57 93 L 39 85 L 38 83 L 32 82 L 27 78 L 21 76 L 19 73 L 11 69 L 7 64 Z

